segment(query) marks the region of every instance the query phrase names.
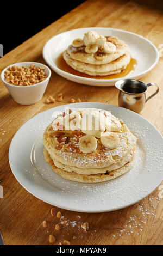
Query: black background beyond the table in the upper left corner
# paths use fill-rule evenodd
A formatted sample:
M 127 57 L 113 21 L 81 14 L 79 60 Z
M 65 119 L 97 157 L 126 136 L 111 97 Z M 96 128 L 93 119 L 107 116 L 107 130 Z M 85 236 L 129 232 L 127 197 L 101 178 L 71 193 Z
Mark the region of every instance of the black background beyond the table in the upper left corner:
M 2 2 L 3 1 L 3 2 Z M 76 1 L 1 1 L 1 40 L 3 54 L 47 27 L 79 4 Z

